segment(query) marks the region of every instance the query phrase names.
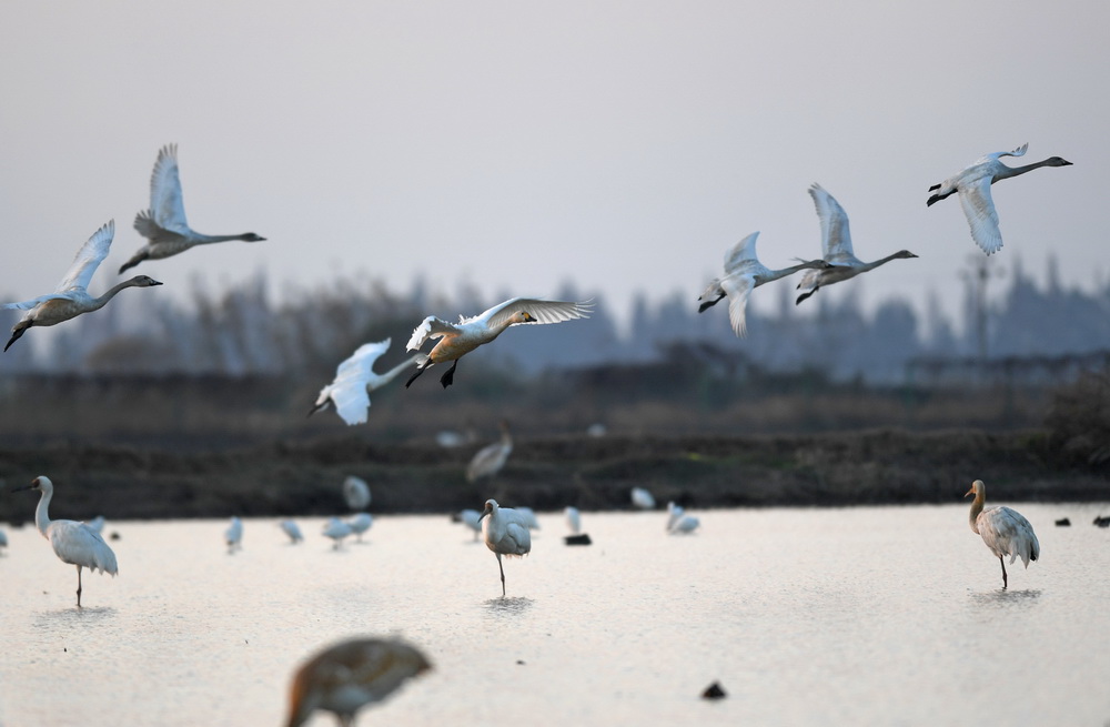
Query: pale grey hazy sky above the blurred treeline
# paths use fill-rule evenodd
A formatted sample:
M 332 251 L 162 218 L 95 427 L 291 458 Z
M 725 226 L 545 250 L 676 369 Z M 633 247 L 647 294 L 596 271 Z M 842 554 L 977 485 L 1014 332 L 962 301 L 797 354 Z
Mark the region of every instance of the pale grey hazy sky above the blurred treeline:
M 1074 165 L 993 188 L 991 265 L 1041 282 L 1056 255 L 1090 291 L 1108 273 L 1108 16 L 1067 0 L 0 3 L 0 297 L 51 292 L 109 219 L 90 292 L 118 282 L 169 142 L 195 230 L 268 240 L 143 263 L 128 276 L 164 287 L 124 295 L 264 272 L 275 301 L 422 277 L 491 299 L 573 282 L 624 317 L 637 293 L 694 307 L 749 232 L 770 267 L 819 256 L 818 182 L 857 256 L 920 255 L 820 295 L 932 295 L 956 316 L 981 253 L 957 199 L 927 209 L 927 190 L 1025 142 L 1008 161 Z M 749 304 L 770 311 L 781 284 Z

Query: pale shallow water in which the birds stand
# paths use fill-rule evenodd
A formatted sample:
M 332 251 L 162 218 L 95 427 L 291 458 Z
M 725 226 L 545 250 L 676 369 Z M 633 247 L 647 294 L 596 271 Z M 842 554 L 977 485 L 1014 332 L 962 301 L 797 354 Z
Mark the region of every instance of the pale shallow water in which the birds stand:
M 1041 543 L 997 559 L 967 507 L 541 514 L 506 561 L 445 516 L 377 517 L 335 552 L 322 519 L 118 522 L 120 576 L 75 573 L 31 527 L 0 556 L 0 724 L 279 725 L 293 668 L 398 633 L 435 670 L 359 724 L 937 725 L 1110 720 L 1110 506 L 1020 505 Z M 1069 516 L 1072 527 L 1054 527 Z M 719 680 L 728 697 L 699 698 Z M 317 715 L 315 726 L 334 724 Z

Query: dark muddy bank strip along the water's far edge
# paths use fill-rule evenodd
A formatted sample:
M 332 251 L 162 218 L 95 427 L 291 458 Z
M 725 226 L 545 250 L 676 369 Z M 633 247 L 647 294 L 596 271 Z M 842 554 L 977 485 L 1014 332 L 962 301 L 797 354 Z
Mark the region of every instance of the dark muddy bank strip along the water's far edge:
M 1106 468 L 1060 464 L 1041 432 L 775 436 L 519 437 L 493 479 L 467 483 L 477 445 L 370 444 L 356 436 L 203 453 L 54 444 L 0 448 L 0 521 L 33 517 L 12 486 L 49 475 L 54 517 L 110 519 L 343 513 L 346 475 L 366 479 L 371 512 L 435 513 L 487 497 L 541 511 L 627 509 L 633 486 L 688 506 L 958 503 L 975 478 L 995 502 L 1110 499 Z

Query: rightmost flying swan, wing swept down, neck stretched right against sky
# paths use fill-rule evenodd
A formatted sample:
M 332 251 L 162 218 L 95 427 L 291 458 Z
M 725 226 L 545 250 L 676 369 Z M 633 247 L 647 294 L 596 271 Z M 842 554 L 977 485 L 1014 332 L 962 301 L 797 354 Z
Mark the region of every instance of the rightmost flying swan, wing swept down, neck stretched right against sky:
M 1029 144 L 1025 143 L 1013 151 L 998 151 L 977 159 L 956 176 L 930 186 L 929 191 L 936 194 L 930 196 L 925 205 L 932 206 L 934 203 L 959 192 L 960 205 L 963 206 L 963 214 L 971 225 L 971 239 L 988 255 L 998 252 L 1002 249 L 1002 233 L 998 230 L 998 213 L 995 212 L 995 200 L 990 196 L 990 185 L 998 180 L 1018 176 L 1041 166 L 1071 165 L 1071 162 L 1059 156 L 1050 156 L 1025 166 L 1007 166 L 1001 162 L 1002 156 L 1021 156 L 1027 149 Z

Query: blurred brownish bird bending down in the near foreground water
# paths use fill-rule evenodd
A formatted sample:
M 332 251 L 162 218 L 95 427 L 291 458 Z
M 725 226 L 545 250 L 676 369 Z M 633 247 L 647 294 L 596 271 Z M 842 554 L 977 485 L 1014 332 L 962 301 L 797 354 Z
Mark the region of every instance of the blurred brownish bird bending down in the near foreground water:
M 330 646 L 293 675 L 287 727 L 300 727 L 316 709 L 334 713 L 340 725 L 350 727 L 360 709 L 431 668 L 427 657 L 400 639 L 356 638 Z

